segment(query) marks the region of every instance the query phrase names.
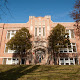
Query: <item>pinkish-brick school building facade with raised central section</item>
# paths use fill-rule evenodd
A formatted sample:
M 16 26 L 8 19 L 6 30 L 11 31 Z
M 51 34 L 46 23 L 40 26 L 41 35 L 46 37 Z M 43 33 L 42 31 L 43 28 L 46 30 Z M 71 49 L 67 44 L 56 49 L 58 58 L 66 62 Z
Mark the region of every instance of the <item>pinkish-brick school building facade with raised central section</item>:
M 71 46 L 68 48 L 60 49 L 58 60 L 49 53 L 47 41 L 50 30 L 57 24 L 65 27 L 71 42 Z M 27 23 L 0 23 L 0 64 L 19 63 L 18 56 L 14 50 L 10 50 L 6 46 L 6 43 L 22 27 L 26 27 L 32 35 L 32 54 L 25 54 L 21 59 L 21 64 L 80 64 L 80 38 L 76 35 L 74 24 L 74 22 L 53 22 L 51 16 L 29 16 Z

